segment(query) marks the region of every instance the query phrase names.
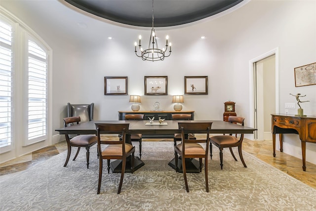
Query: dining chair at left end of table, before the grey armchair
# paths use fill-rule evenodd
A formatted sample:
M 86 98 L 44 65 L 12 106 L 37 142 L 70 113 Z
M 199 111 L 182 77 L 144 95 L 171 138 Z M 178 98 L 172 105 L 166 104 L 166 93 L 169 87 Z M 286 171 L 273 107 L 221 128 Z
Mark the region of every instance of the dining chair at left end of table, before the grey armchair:
M 80 117 L 66 117 L 64 120 L 64 127 L 71 126 L 71 125 L 78 125 L 80 122 Z M 78 147 L 77 153 L 73 159 L 76 160 L 80 148 L 85 147 L 86 149 L 86 160 L 87 160 L 87 169 L 89 169 L 89 155 L 90 155 L 90 147 L 97 143 L 97 136 L 96 135 L 76 135 L 71 136 L 69 134 L 65 134 L 66 142 L 67 142 L 67 158 L 64 167 L 67 166 L 72 147 Z

